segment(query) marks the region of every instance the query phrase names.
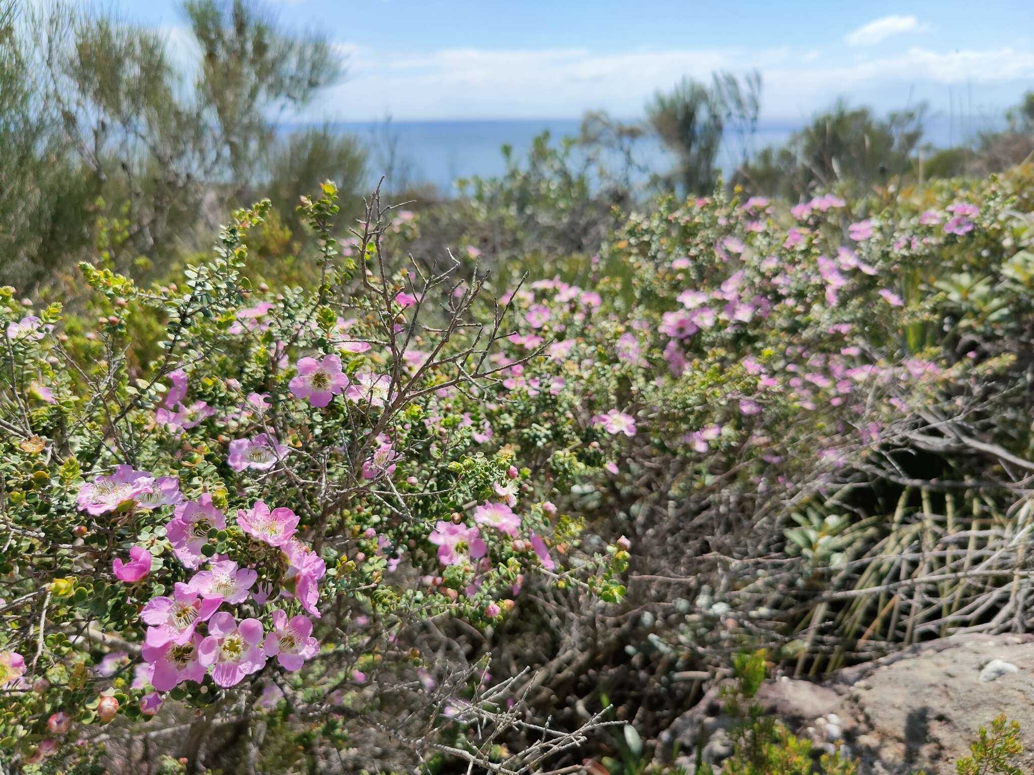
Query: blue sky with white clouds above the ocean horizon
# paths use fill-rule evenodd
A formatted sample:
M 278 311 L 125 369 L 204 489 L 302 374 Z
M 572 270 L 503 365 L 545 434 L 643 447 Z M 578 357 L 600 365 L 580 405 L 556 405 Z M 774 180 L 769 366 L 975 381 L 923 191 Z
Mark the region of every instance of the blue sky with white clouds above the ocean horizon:
M 838 96 L 997 116 L 1034 88 L 1030 0 L 271 0 L 324 31 L 347 79 L 309 120 L 632 117 L 683 74 L 761 70 L 762 117 L 799 124 Z M 123 0 L 184 55 L 175 0 Z

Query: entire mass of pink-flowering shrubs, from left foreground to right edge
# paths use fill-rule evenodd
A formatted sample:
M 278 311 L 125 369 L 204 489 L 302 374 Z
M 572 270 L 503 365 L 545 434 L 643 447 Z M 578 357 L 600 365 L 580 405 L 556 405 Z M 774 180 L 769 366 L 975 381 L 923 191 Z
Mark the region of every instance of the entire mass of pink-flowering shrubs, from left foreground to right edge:
M 662 202 L 509 285 L 403 258 L 375 197 L 338 241 L 328 184 L 309 288 L 242 279 L 260 206 L 182 283 L 84 266 L 95 326 L 5 289 L 4 750 L 187 707 L 192 762 L 261 722 L 276 767 L 535 772 L 746 644 L 816 672 L 979 626 L 1034 470 L 1027 176 Z

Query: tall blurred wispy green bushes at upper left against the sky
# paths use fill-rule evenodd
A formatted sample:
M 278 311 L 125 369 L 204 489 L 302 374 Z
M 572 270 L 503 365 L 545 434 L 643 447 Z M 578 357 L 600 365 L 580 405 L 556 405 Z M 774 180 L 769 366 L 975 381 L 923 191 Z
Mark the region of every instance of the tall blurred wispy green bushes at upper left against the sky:
M 283 29 L 246 0 L 195 0 L 184 12 L 196 45 L 176 44 L 199 58 L 180 70 L 160 32 L 114 12 L 0 6 L 0 216 L 12 225 L 0 237 L 0 282 L 69 301 L 68 268 L 115 222 L 125 228 L 104 248 L 110 266 L 162 277 L 260 187 L 291 215 L 329 175 L 349 192 L 358 185 L 354 142 L 280 137 L 270 119 L 341 76 L 323 36 Z

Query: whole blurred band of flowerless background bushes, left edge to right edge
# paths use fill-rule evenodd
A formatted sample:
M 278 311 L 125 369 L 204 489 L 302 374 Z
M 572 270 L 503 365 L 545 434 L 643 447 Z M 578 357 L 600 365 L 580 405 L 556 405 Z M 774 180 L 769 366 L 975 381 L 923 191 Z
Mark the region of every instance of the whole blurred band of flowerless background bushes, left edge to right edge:
M 964 147 L 924 142 L 925 105 L 880 117 L 841 101 L 758 150 L 760 74 L 716 73 L 659 92 L 641 122 L 594 112 L 578 137 L 543 134 L 521 158 L 504 148 L 503 175 L 459 181 L 461 195 L 444 198 L 413 188 L 390 122 L 372 147 L 330 125 L 284 129 L 280 117 L 318 104 L 346 74 L 324 36 L 251 0 L 187 0 L 182 13 L 184 32 L 170 39 L 95 6 L 0 0 L 0 283 L 67 299 L 68 269 L 97 256 L 160 280 L 261 197 L 274 208 L 251 238 L 253 271 L 301 278 L 311 245 L 299 196 L 332 179 L 358 211 L 368 173 L 384 173 L 397 200 L 418 200 L 428 249 L 467 245 L 501 260 L 590 254 L 615 212 L 657 193 L 710 193 L 723 168 L 749 194 L 858 197 L 983 176 L 1034 150 L 1034 92 L 1003 129 Z M 657 141 L 670 168 L 641 161 Z

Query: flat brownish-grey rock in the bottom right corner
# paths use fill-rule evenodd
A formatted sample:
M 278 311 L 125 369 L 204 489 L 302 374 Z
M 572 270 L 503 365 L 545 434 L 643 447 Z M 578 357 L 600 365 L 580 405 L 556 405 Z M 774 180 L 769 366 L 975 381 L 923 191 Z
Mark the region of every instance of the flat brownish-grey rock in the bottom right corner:
M 821 684 L 767 681 L 755 701 L 816 750 L 850 751 L 860 775 L 954 772 L 979 727 L 1004 713 L 1020 722 L 1026 752 L 1017 766 L 1034 772 L 1031 677 L 1034 636 L 954 636 L 847 668 Z M 665 747 L 676 740 L 693 750 L 701 729 L 727 725 L 716 686 L 662 735 L 659 757 L 667 761 Z

